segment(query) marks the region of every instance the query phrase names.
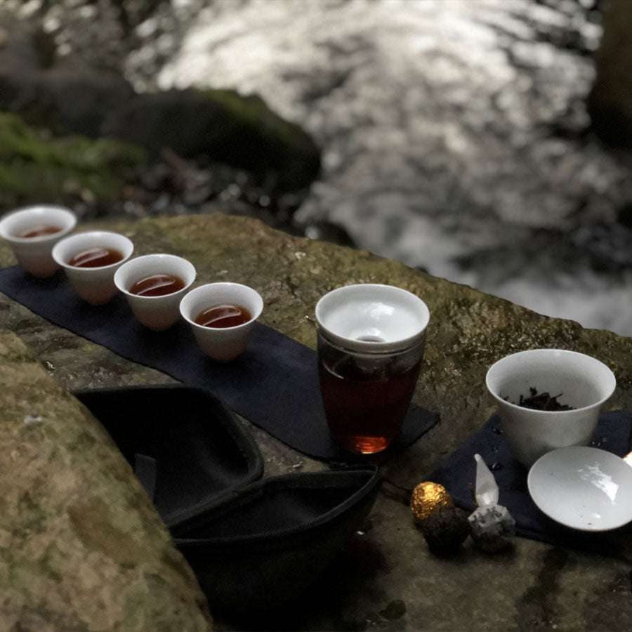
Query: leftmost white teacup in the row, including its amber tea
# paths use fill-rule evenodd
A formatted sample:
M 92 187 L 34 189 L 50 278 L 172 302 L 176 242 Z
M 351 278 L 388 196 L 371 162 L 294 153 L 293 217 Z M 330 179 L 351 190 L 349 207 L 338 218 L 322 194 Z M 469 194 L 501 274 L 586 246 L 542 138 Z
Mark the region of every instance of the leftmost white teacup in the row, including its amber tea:
M 51 254 L 53 246 L 76 225 L 77 217 L 62 206 L 27 206 L 0 220 L 0 237 L 27 272 L 51 277 L 59 268 Z

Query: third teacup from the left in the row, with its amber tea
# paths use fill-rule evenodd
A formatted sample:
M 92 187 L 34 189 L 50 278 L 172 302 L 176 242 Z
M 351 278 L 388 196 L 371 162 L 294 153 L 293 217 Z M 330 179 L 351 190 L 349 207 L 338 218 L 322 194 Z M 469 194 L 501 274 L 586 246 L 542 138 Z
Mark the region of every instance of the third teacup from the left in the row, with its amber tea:
M 136 257 L 114 272 L 114 284 L 136 320 L 154 331 L 169 329 L 180 318 L 180 301 L 194 281 L 193 264 L 171 254 Z

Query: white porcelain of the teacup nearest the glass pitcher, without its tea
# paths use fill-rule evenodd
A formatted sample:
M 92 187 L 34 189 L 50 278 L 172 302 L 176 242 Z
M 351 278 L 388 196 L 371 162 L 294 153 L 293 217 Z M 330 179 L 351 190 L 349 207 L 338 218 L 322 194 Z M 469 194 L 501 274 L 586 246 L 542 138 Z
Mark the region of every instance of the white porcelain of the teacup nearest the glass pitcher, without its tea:
M 225 329 L 204 327 L 195 322 L 197 315 L 215 305 L 240 305 L 251 319 Z M 263 311 L 263 298 L 251 287 L 239 283 L 208 283 L 191 290 L 180 302 L 180 314 L 190 324 L 195 339 L 206 355 L 218 362 L 229 362 L 244 353 L 252 327 Z

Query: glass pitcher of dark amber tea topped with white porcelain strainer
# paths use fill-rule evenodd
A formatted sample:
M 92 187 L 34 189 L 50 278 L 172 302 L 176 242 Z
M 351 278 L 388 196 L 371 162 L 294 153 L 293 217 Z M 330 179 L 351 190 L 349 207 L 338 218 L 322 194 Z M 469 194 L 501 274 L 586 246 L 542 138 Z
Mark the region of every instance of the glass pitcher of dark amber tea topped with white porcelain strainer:
M 331 438 L 372 454 L 399 435 L 415 390 L 430 312 L 388 285 L 338 288 L 316 306 L 318 374 Z

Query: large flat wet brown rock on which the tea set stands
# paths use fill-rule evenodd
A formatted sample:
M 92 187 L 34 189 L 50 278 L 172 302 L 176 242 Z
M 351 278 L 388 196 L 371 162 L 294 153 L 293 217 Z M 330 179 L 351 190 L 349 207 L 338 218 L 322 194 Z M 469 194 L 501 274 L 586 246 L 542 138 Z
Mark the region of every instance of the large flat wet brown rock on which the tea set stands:
M 396 261 L 324 242 L 290 237 L 248 218 L 187 216 L 110 222 L 138 254 L 169 252 L 190 259 L 197 283 L 231 280 L 256 288 L 264 324 L 315 348 L 310 317 L 318 298 L 351 283 L 387 283 L 418 294 L 431 313 L 428 344 L 414 396 L 442 421 L 403 454 L 383 465 L 386 485 L 366 530 L 300 612 L 258 621 L 296 629 L 557 630 L 632 626 L 632 549 L 619 559 L 515 539 L 487 555 L 466 543 L 451 558 L 428 552 L 414 527 L 407 491 L 427 480 L 445 457 L 494 411 L 485 390 L 492 362 L 514 351 L 550 347 L 588 353 L 617 376 L 612 409 L 632 400 L 632 340 L 545 317 L 463 285 L 430 277 Z M 13 263 L 5 244 L 0 264 Z M 2 298 L 0 326 L 14 331 L 62 386 L 79 388 L 164 383 L 171 378 L 110 351 Z M 66 397 L 62 393 L 51 395 Z M 244 421 L 244 423 L 246 423 Z M 249 424 L 246 424 L 249 425 Z M 322 463 L 251 426 L 266 475 L 316 470 Z M 315 589 L 316 590 L 316 589 Z M 280 615 L 275 615 L 280 617 Z M 216 625 L 234 629 L 233 621 Z

